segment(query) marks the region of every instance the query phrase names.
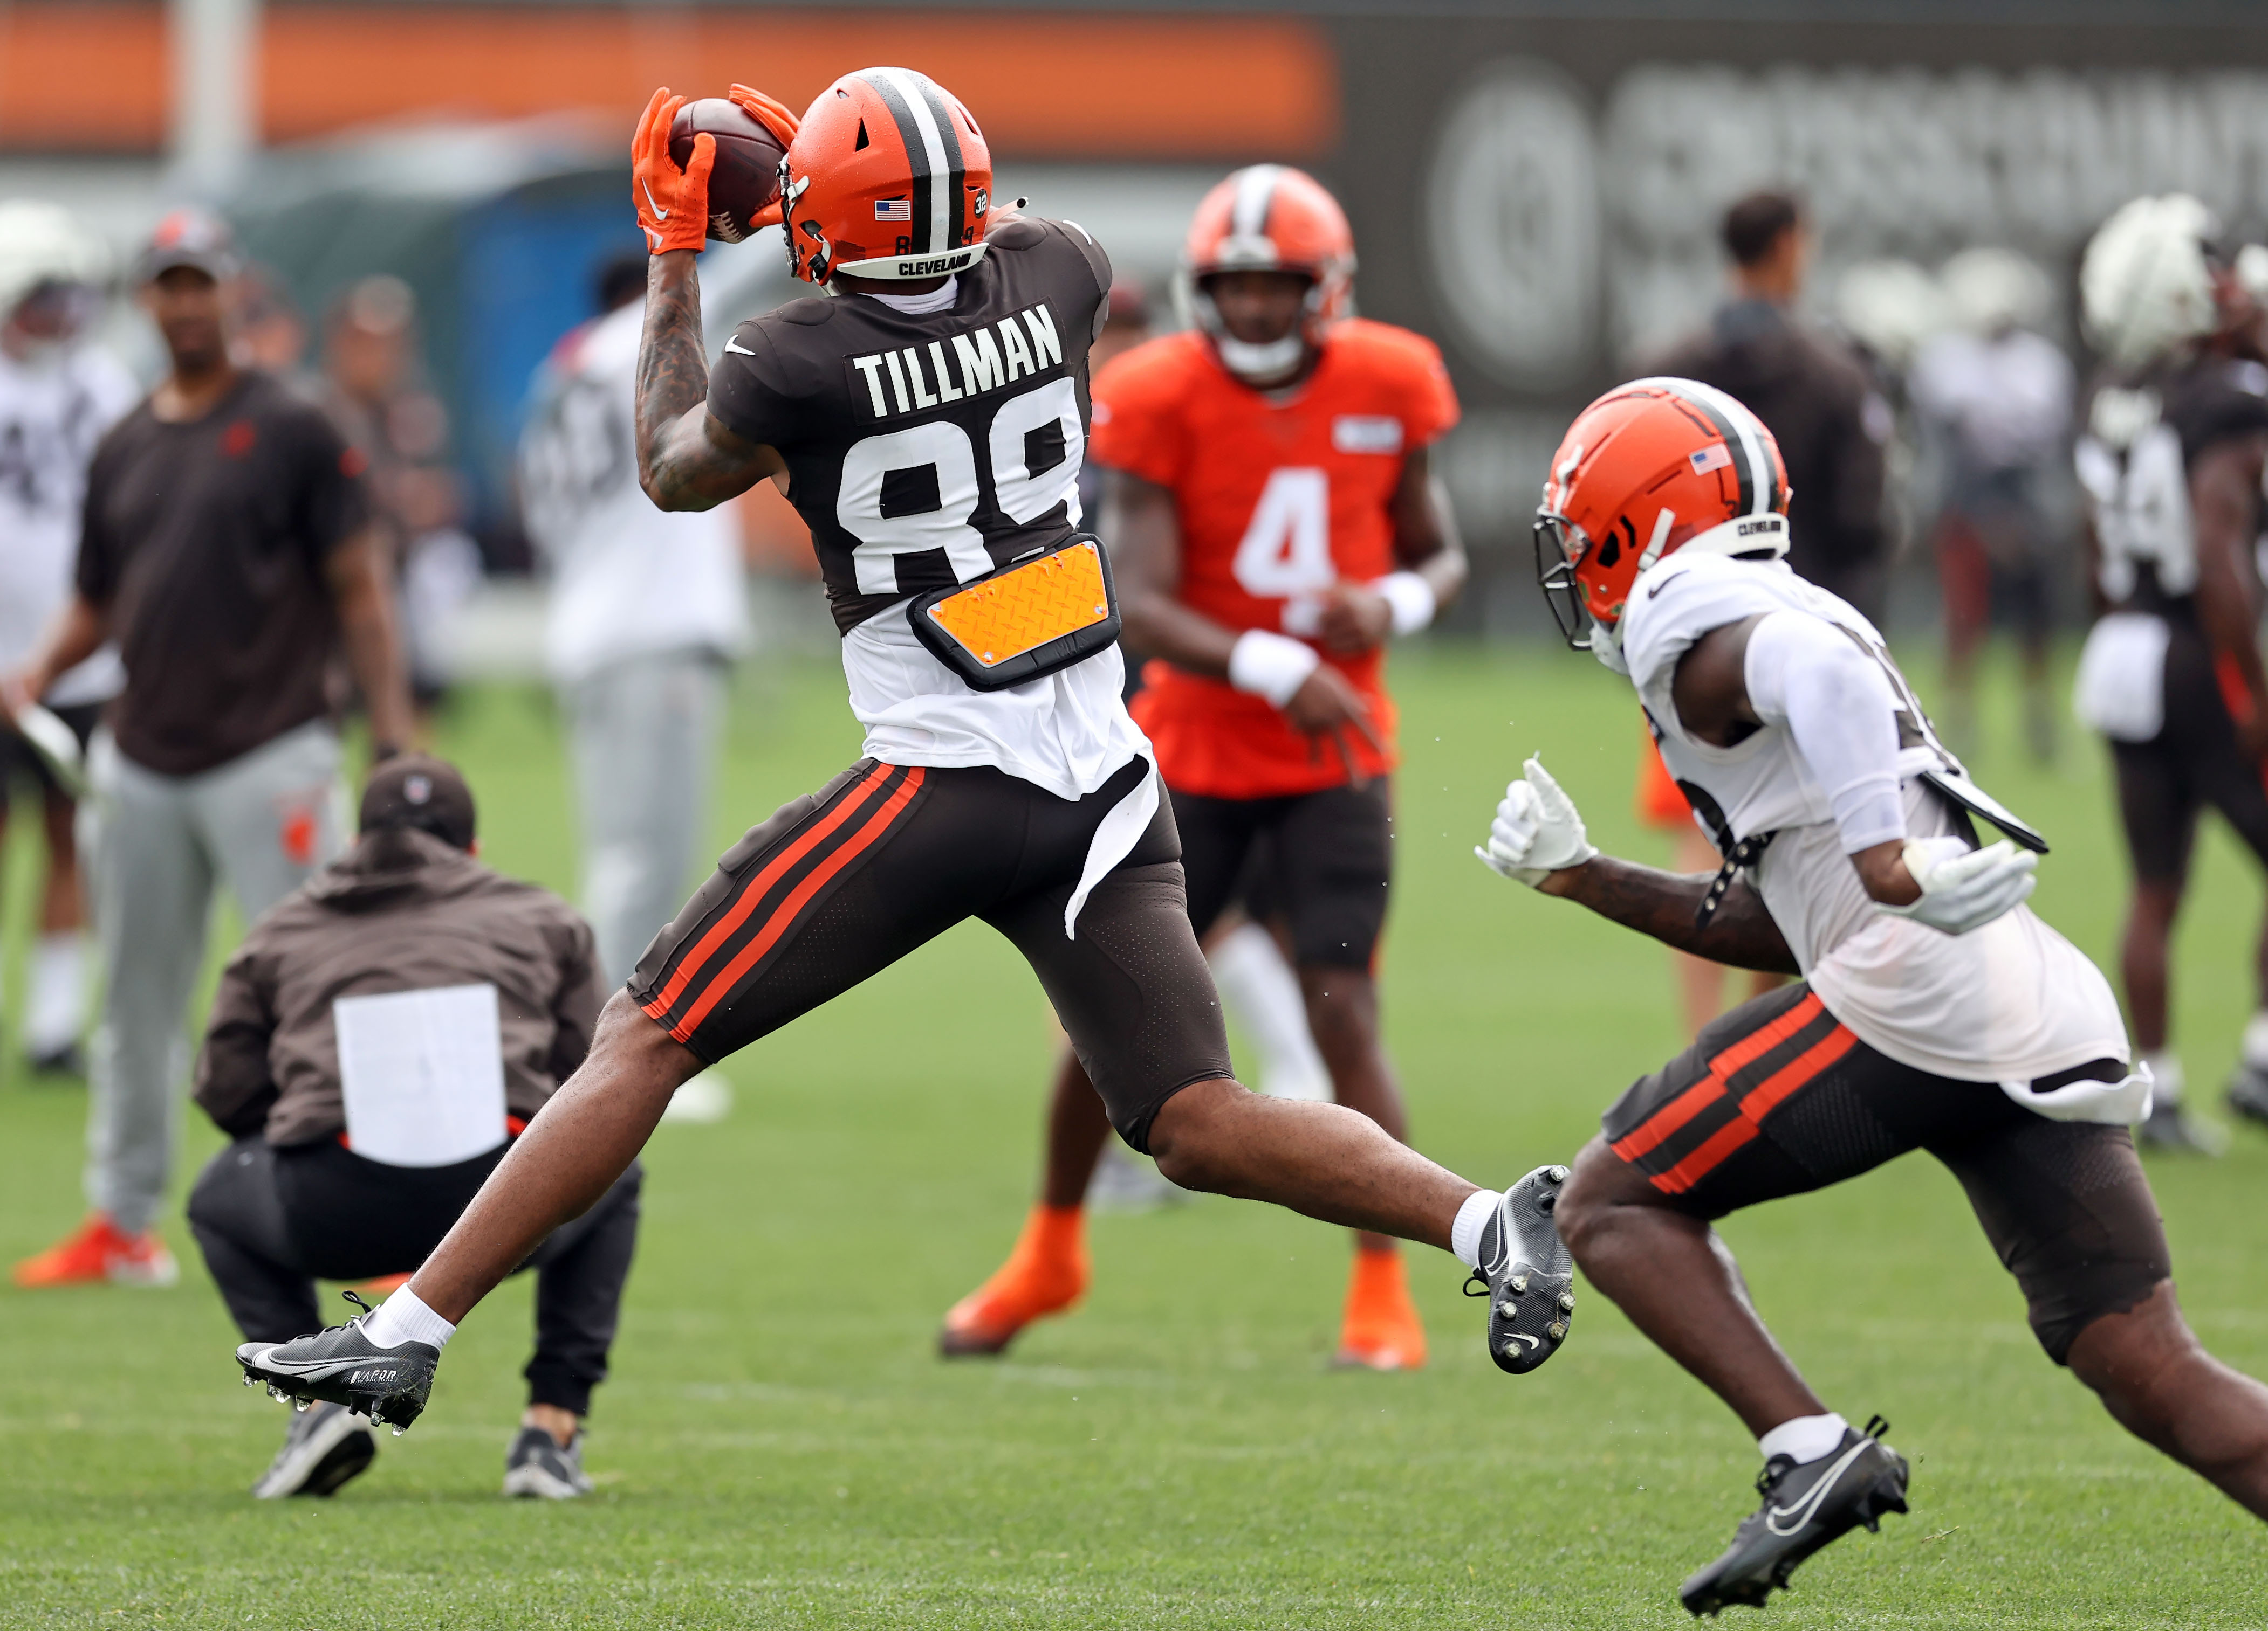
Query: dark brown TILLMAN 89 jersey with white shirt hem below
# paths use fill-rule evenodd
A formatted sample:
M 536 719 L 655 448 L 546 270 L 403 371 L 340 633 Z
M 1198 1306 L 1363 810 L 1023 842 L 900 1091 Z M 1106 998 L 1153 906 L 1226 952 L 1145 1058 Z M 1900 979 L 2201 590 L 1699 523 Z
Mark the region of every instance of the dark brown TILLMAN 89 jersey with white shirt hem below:
M 978 693 L 905 621 L 909 596 L 973 582 L 1080 526 L 1086 347 L 1109 285 L 1086 231 L 1023 217 L 987 238 L 946 310 L 798 299 L 726 342 L 710 412 L 787 460 L 869 757 L 996 766 L 1084 797 L 1145 750 L 1116 646 Z

